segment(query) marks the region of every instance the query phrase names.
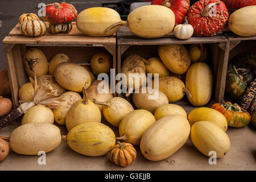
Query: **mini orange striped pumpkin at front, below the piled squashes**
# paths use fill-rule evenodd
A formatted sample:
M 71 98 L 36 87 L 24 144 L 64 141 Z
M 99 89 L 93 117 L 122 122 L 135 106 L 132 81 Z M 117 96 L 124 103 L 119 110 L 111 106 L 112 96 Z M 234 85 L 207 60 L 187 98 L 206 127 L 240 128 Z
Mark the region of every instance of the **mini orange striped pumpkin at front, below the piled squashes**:
M 115 146 L 109 151 L 110 160 L 122 167 L 131 164 L 137 155 L 137 152 L 132 144 L 126 142 L 117 142 Z

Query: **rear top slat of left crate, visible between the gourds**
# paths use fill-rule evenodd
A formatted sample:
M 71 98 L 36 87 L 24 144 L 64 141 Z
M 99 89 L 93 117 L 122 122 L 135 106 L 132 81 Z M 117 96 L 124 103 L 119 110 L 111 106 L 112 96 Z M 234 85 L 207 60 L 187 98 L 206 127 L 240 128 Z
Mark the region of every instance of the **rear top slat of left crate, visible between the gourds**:
M 72 30 L 67 33 L 60 33 L 60 34 L 51 34 L 49 32 L 49 23 L 45 22 L 47 26 L 46 34 L 44 36 L 85 36 L 82 34 L 76 27 L 76 22 L 72 22 Z M 19 23 L 16 24 L 16 26 L 10 31 L 9 36 L 24 36 L 22 35 L 22 32 L 19 31 Z M 109 38 L 115 38 L 115 34 L 108 36 Z

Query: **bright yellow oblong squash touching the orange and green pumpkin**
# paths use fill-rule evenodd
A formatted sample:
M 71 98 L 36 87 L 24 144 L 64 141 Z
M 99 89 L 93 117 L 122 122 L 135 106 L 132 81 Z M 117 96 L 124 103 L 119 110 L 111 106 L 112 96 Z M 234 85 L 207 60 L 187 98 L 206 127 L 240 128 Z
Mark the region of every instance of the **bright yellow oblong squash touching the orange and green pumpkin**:
M 216 124 L 224 131 L 228 129 L 228 122 L 225 116 L 219 111 L 209 107 L 199 107 L 192 110 L 188 114 L 188 121 L 191 126 L 199 121 L 209 121 Z

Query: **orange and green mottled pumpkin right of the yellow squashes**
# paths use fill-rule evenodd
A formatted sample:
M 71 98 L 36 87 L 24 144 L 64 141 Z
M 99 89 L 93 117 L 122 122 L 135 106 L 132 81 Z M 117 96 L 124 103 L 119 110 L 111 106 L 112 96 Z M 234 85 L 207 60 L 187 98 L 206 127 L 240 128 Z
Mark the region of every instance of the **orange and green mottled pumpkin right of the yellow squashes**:
M 231 127 L 243 127 L 248 125 L 251 116 L 238 104 L 232 104 L 231 102 L 225 102 L 224 104 L 216 103 L 212 105 L 212 109 L 215 109 L 222 113 L 226 121 L 228 121 L 228 126 Z

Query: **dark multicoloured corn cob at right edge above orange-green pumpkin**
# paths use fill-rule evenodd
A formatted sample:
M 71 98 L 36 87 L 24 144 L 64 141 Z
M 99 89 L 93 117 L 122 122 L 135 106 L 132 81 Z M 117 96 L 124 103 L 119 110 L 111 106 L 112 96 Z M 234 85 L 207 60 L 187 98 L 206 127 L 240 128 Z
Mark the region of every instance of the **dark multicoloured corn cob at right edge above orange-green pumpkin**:
M 246 89 L 245 95 L 242 98 L 241 107 L 245 110 L 250 108 L 251 102 L 256 95 L 256 79 L 250 83 Z

